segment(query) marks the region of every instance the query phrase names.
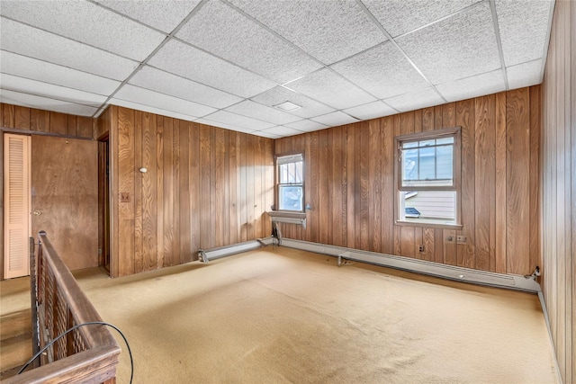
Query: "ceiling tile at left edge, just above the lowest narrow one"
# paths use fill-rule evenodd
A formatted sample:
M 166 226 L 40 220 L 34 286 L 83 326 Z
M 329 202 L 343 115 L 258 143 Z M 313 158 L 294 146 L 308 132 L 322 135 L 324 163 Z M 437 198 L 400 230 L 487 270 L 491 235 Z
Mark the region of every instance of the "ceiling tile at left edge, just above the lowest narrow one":
M 40 81 L 7 74 L 0 74 L 0 87 L 2 90 L 7 89 L 14 92 L 22 92 L 23 94 L 35 94 L 68 103 L 85 104 L 93 107 L 98 107 L 106 101 L 106 96 L 101 94 L 89 94 L 64 86 L 42 83 Z

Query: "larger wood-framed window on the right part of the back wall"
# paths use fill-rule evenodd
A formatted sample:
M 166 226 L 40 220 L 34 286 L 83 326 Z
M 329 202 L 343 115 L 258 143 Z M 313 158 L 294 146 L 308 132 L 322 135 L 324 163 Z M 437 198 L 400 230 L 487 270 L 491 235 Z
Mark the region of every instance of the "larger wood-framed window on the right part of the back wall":
M 394 138 L 397 224 L 460 228 L 461 129 Z

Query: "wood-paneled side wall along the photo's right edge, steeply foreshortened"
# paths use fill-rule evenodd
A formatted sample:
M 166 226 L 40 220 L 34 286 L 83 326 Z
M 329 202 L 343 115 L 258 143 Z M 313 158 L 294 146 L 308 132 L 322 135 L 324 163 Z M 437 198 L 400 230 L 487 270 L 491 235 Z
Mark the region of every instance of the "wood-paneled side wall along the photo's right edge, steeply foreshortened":
M 545 303 L 564 383 L 576 382 L 576 3 L 556 1 L 542 85 Z

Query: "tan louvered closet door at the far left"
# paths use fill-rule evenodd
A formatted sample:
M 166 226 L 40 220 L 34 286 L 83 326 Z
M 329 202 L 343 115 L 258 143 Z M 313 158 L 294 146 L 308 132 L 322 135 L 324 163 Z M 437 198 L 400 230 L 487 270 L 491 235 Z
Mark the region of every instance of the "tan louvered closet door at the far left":
M 30 274 L 29 136 L 4 134 L 4 279 Z

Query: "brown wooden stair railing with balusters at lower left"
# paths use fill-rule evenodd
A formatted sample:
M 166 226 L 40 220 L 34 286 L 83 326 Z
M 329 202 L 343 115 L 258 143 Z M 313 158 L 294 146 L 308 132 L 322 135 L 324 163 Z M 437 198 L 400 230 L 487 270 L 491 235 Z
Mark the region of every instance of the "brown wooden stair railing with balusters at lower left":
M 38 255 L 31 253 L 31 280 L 35 282 L 40 350 L 73 326 L 102 321 L 94 306 L 78 286 L 66 264 L 40 232 Z M 32 284 L 33 286 L 34 284 Z M 106 326 L 80 326 L 47 349 L 40 367 L 6 379 L 5 383 L 113 383 L 121 352 Z

